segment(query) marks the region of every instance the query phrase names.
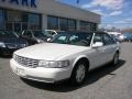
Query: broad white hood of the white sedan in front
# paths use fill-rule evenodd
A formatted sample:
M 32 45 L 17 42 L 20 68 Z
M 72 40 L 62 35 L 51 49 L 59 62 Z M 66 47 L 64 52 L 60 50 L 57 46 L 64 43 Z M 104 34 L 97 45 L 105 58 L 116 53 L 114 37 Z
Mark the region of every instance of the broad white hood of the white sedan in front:
M 14 52 L 14 54 L 33 59 L 57 61 L 57 58 L 73 55 L 88 48 L 89 47 L 67 44 L 42 43 L 19 50 Z

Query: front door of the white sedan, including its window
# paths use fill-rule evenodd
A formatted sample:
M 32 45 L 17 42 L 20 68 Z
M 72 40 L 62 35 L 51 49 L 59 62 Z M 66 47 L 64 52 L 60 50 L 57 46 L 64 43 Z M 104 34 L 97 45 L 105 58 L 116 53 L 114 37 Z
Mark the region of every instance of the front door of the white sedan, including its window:
M 92 40 L 92 45 L 97 42 L 101 42 L 103 44 L 103 34 L 102 33 L 96 33 Z M 105 44 L 103 44 L 105 45 Z M 100 65 L 103 65 L 107 59 L 106 55 L 106 46 L 100 47 L 92 47 L 92 68 L 99 67 Z

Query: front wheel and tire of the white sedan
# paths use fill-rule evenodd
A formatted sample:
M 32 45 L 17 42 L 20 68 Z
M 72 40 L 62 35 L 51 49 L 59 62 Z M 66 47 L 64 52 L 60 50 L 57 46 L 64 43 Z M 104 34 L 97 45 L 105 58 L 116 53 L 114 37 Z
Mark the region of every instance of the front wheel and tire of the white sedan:
M 88 67 L 86 62 L 78 62 L 73 70 L 70 82 L 75 86 L 79 86 L 85 82 L 88 76 Z

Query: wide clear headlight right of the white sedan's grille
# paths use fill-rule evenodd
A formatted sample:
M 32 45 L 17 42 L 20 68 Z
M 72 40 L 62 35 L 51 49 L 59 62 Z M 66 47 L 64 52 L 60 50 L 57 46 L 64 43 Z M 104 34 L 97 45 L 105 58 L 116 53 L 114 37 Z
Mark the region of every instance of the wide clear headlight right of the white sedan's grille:
M 40 67 L 63 68 L 69 66 L 69 61 L 40 61 Z

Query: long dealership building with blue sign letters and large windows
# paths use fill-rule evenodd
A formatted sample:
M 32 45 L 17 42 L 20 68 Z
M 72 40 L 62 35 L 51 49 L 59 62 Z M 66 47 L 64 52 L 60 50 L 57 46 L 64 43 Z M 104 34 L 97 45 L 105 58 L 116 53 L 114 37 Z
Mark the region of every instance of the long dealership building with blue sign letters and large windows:
M 57 0 L 0 0 L 0 30 L 96 31 L 100 15 Z

